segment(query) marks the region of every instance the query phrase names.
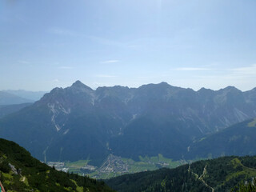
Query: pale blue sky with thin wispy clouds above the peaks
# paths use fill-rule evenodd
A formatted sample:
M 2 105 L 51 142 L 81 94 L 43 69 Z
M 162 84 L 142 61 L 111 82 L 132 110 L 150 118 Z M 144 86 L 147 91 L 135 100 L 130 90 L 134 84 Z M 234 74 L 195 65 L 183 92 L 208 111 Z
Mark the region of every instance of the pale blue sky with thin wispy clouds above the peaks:
M 256 87 L 255 0 L 1 0 L 0 90 Z

